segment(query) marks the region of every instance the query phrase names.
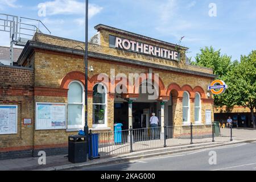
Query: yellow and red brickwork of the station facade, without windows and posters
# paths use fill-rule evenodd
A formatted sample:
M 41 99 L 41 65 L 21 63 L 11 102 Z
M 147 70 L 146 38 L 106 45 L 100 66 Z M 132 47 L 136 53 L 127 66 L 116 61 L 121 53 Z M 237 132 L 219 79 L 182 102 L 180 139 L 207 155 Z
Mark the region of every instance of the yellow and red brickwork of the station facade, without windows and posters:
M 118 35 L 116 32 L 100 30 L 101 45 L 89 44 L 89 52 L 101 53 L 108 56 L 117 56 L 137 60 L 138 62 L 154 63 L 166 67 L 180 68 L 189 71 L 197 71 L 205 74 L 212 74 L 212 69 L 194 67 L 185 64 L 185 53 L 181 53 L 180 61 L 170 61 L 146 55 L 139 55 L 114 48 L 109 48 L 108 36 Z M 130 38 L 122 35 L 123 38 Z M 130 38 L 134 39 L 134 38 Z M 56 49 L 74 48 L 79 50 L 78 46 L 84 47 L 84 43 L 75 40 L 57 38 L 36 33 L 34 42 L 43 43 L 44 46 L 54 45 Z M 147 40 L 140 40 L 148 43 Z M 29 43 L 27 43 L 28 45 Z M 152 45 L 158 46 L 155 42 Z M 162 45 L 162 47 L 170 48 Z M 25 47 L 25 48 L 29 48 Z M 173 47 L 172 47 L 173 49 Z M 23 53 L 25 55 L 26 53 Z M 18 63 L 25 68 L 2 67 L 0 66 L 0 102 L 7 104 L 18 104 L 18 134 L 0 135 L 0 159 L 6 158 L 8 151 L 16 151 L 15 154 L 26 156 L 28 154 L 36 155 L 36 151 L 46 150 L 49 154 L 60 154 L 67 152 L 68 135 L 77 134 L 77 131 L 63 130 L 35 130 L 35 103 L 36 102 L 55 102 L 66 103 L 68 101 L 68 84 L 77 80 L 84 84 L 84 59 L 82 55 L 67 53 L 46 48 L 31 48 L 27 51 L 27 56 L 20 56 Z M 92 128 L 93 106 L 92 89 L 97 82 L 97 76 L 100 73 L 106 73 L 110 76 L 110 69 L 115 69 L 115 75 L 118 73 L 148 73 L 150 67 L 143 65 L 134 65 L 129 63 L 117 63 L 116 61 L 89 57 L 88 65 L 92 66 L 94 71 L 88 71 L 88 126 Z M 26 68 L 32 67 L 32 68 Z M 207 86 L 214 79 L 213 77 L 193 75 L 190 73 L 166 71 L 159 68 L 151 68 L 152 73 L 158 73 L 160 79 L 159 100 L 165 100 L 172 97 L 173 121 L 175 125 L 182 125 L 182 97 L 183 92 L 187 91 L 190 95 L 190 115 L 191 122 L 194 119 L 194 99 L 195 93 L 201 96 L 201 123 L 205 123 L 205 110 L 212 110 L 213 119 L 213 99 L 207 97 Z M 114 124 L 114 100 L 115 95 L 109 92 L 107 99 L 107 129 L 113 130 Z M 133 93 L 126 94 L 126 97 Z M 134 96 L 134 95 L 133 95 Z M 164 99 L 163 99 L 164 98 Z M 0 103 L 1 104 L 1 103 Z M 23 125 L 23 118 L 32 118 L 32 125 Z M 104 130 L 104 131 L 106 131 Z M 98 131 L 101 132 L 101 131 Z M 20 152 L 19 152 L 20 151 Z M 23 153 L 21 151 L 24 151 Z M 2 152 L 2 153 L 1 153 Z M 26 154 L 26 155 L 25 155 Z M 15 155 L 16 156 L 16 155 Z

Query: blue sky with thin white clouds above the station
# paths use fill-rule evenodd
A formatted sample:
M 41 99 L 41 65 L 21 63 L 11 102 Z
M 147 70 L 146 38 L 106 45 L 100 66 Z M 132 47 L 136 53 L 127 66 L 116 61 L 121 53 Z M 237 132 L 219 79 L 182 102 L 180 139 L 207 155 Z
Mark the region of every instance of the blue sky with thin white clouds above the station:
M 46 16 L 39 16 L 39 4 Z M 216 16 L 209 16 L 210 3 Z M 41 6 L 42 7 L 42 6 Z M 40 19 L 52 35 L 84 41 L 84 1 L 0 0 L 0 13 Z M 97 24 L 150 36 L 189 47 L 188 57 L 200 48 L 213 46 L 240 60 L 256 49 L 255 0 L 89 0 L 89 38 Z M 0 46 L 9 46 L 8 34 L 0 31 Z

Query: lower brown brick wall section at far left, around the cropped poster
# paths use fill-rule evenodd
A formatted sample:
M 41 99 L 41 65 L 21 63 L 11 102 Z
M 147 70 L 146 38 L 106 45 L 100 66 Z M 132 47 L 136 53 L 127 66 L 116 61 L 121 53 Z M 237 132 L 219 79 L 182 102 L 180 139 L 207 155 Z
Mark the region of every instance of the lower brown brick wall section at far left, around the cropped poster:
M 34 71 L 0 65 L 0 80 L 0 105 L 18 105 L 18 134 L 0 135 L 0 159 L 31 156 L 34 119 L 32 125 L 23 125 L 23 119 L 34 118 Z

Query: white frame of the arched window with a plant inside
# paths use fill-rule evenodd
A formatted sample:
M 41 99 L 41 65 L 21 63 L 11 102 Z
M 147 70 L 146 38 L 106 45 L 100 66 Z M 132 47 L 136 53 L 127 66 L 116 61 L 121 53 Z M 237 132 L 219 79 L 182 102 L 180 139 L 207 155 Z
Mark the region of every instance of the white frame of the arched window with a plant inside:
M 98 84 L 104 86 L 105 104 L 93 103 L 92 106 L 94 106 L 94 105 L 105 105 L 104 124 L 94 124 L 94 123 L 92 123 L 93 128 L 108 127 L 108 119 L 107 119 L 108 118 L 108 112 L 107 112 L 107 110 L 108 110 L 108 90 L 106 89 L 106 86 L 104 84 L 97 83 L 95 85 L 98 85 Z M 94 88 L 95 85 L 93 85 L 93 88 Z M 93 99 L 92 99 L 92 102 L 93 102 Z M 93 112 L 93 110 L 92 110 L 92 115 L 93 115 L 93 121 L 94 121 L 94 112 Z

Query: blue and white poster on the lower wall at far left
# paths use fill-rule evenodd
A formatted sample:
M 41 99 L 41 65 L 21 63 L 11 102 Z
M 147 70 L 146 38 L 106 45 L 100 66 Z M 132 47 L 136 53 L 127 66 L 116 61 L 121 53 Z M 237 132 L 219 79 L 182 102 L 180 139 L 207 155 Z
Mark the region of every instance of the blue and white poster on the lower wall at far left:
M 0 105 L 0 135 L 17 133 L 17 110 L 17 105 Z

